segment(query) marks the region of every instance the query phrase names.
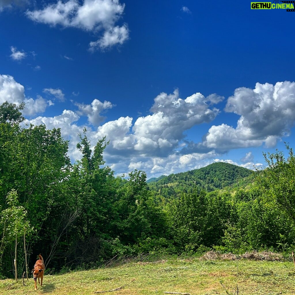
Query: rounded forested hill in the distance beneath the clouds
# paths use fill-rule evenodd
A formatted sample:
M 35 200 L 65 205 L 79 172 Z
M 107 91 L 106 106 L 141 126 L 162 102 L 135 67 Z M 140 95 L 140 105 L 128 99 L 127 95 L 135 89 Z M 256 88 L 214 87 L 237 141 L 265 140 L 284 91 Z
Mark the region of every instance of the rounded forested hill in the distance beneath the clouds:
M 156 194 L 171 197 L 179 193 L 193 190 L 214 191 L 228 187 L 245 187 L 253 182 L 252 170 L 229 163 L 213 163 L 200 169 L 195 169 L 148 180 L 148 186 Z

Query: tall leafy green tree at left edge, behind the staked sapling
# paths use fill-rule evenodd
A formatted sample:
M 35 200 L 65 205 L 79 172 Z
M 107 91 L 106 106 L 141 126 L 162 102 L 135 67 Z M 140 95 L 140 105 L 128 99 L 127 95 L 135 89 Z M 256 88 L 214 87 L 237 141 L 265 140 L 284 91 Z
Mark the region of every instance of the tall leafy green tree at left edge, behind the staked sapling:
M 47 130 L 45 125 L 22 128 L 22 105 L 1 106 L 0 123 L 0 206 L 8 209 L 7 194 L 15 190 L 35 232 L 27 239 L 27 252 L 36 246 L 44 222 L 57 201 L 59 187 L 68 175 L 68 142 L 60 129 Z M 4 231 L 0 224 L 0 231 Z M 2 228 L 1 228 L 2 227 Z M 54 226 L 53 226 L 54 228 Z M 48 229 L 49 230 L 49 229 Z M 10 259 L 11 251 L 4 250 Z

